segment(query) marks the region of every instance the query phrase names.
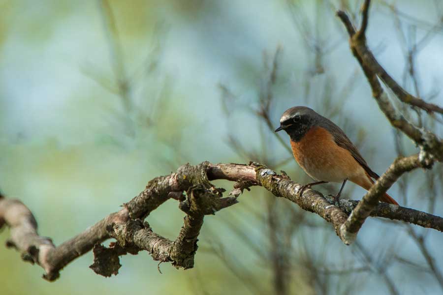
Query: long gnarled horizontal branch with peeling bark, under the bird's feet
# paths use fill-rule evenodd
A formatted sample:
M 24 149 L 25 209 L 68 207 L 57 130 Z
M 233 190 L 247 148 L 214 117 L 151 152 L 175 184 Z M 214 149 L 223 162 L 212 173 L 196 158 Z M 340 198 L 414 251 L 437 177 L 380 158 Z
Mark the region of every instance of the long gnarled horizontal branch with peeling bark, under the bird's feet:
M 156 177 L 149 181 L 146 189 L 128 203 L 119 212 L 112 213 L 88 228 L 85 232 L 55 246 L 50 238 L 37 234 L 37 223 L 32 212 L 20 201 L 0 198 L 0 225 L 11 228 L 11 239 L 7 246 L 15 247 L 22 253 L 22 258 L 37 263 L 44 270 L 44 278 L 54 281 L 59 271 L 75 258 L 94 248 L 95 263 L 91 266 L 98 274 L 110 276 L 117 274 L 120 268 L 119 256 L 127 253 L 136 254 L 146 250 L 154 260 L 171 262 L 176 267 L 191 268 L 197 250 L 197 237 L 203 224 L 204 215 L 237 203 L 235 197 L 222 197 L 224 190 L 216 188 L 210 180 L 226 179 L 258 185 L 296 203 L 307 211 L 314 212 L 332 223 L 337 235 L 341 236 L 341 226 L 346 222 L 349 207 L 356 201 L 348 202 L 347 210 L 329 203 L 320 193 L 311 189 L 301 191 L 301 185 L 287 176 L 277 175 L 263 165 L 250 163 L 184 165 L 177 172 L 168 176 Z M 187 198 L 181 192 L 187 192 Z M 170 241 L 156 234 L 147 222 L 142 220 L 149 213 L 173 198 L 179 200 L 179 208 L 186 212 L 184 225 L 175 241 Z M 380 207 L 380 209 L 377 209 Z M 443 231 L 443 218 L 405 207 L 386 209 L 379 204 L 373 211 L 375 216 L 406 221 L 422 227 Z M 399 213 L 400 212 L 400 213 Z M 109 248 L 100 245 L 108 238 L 117 241 Z

